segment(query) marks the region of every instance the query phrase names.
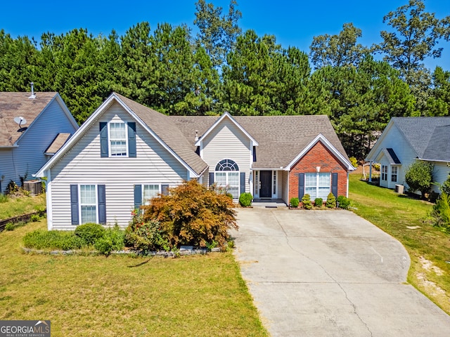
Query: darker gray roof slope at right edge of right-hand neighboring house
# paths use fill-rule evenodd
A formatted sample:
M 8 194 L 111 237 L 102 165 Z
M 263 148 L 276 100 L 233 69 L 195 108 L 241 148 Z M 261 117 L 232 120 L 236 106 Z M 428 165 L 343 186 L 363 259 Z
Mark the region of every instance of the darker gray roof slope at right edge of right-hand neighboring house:
M 450 161 L 450 125 L 435 127 L 422 159 Z

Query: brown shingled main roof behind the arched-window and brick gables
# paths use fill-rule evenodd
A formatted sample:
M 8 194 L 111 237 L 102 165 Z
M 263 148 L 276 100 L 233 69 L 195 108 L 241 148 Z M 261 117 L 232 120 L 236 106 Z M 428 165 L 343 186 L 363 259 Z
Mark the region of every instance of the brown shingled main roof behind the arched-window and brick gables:
M 219 117 L 211 116 L 170 116 L 174 124 L 193 145 L 195 131 L 201 137 Z M 304 150 L 321 133 L 335 148 L 348 159 L 330 120 L 325 115 L 315 116 L 236 116 L 233 117 L 250 135 L 257 140 L 257 161 L 253 167 L 259 169 L 285 168 L 290 161 Z M 195 150 L 195 147 L 193 147 Z

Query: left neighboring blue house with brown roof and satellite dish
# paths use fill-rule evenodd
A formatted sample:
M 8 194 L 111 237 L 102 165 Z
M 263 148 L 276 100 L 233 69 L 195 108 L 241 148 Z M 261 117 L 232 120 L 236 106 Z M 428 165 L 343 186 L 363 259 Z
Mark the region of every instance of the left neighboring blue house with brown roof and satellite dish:
M 58 93 L 0 92 L 0 192 L 31 179 L 77 129 Z

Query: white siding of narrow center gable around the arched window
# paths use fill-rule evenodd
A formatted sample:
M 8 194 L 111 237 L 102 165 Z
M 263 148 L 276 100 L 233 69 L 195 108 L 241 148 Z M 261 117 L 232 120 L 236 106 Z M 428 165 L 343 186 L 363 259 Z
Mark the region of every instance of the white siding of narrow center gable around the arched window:
M 245 172 L 245 192 L 250 191 L 251 140 L 229 119 L 224 119 L 202 141 L 202 159 L 210 166 L 210 172 L 223 159 L 236 162 L 240 172 Z M 239 185 L 239 177 L 238 185 Z M 215 180 L 214 180 L 215 181 Z M 238 190 L 238 194 L 239 194 Z

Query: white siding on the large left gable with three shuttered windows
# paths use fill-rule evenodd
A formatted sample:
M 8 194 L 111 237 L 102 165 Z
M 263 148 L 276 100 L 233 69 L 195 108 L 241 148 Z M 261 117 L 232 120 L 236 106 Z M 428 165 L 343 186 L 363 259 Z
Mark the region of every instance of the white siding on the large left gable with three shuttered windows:
M 104 184 L 106 223 L 126 227 L 134 209 L 134 185 L 159 182 L 174 187 L 188 180 L 186 168 L 136 123 L 136 158 L 104 157 L 100 154 L 98 123 L 134 121 L 114 103 L 91 125 L 70 151 L 51 169 L 53 229 L 73 230 L 70 225 L 70 184 Z

